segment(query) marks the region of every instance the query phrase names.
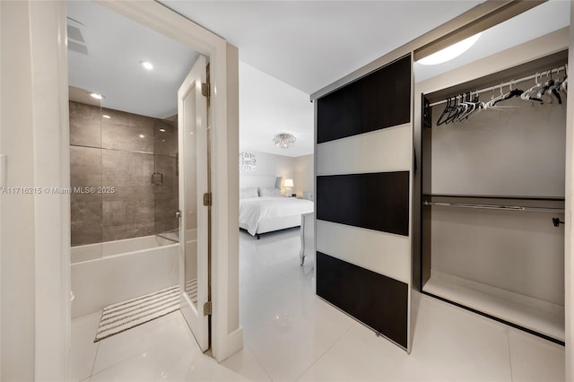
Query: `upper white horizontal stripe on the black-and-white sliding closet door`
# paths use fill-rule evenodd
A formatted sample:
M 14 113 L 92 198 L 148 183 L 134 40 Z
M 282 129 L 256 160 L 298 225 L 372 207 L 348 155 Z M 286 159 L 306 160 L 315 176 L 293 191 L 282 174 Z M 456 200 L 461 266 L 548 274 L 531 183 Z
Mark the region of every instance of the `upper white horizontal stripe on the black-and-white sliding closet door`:
M 410 170 L 411 124 L 317 144 L 317 176 Z

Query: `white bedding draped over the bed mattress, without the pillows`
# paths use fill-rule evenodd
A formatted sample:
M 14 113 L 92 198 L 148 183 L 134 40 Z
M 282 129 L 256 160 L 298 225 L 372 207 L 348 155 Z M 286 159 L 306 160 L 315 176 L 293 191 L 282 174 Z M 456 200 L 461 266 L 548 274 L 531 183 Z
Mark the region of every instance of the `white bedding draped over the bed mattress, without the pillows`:
M 248 230 L 251 235 L 255 235 L 260 221 L 312 212 L 314 212 L 314 204 L 307 199 L 251 197 L 239 200 L 239 225 Z

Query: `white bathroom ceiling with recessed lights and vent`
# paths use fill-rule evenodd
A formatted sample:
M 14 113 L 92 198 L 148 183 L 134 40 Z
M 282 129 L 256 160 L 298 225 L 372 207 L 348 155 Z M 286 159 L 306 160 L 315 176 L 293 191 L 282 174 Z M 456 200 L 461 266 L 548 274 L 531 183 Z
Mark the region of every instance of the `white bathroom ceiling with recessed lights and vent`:
M 78 28 L 84 39 L 82 44 L 69 33 L 71 86 L 103 94 L 106 108 L 159 118 L 177 114 L 177 91 L 196 52 L 100 4 L 69 1 L 67 12 L 68 30 Z M 87 54 L 74 50 L 74 43 Z M 152 72 L 142 60 L 153 63 Z

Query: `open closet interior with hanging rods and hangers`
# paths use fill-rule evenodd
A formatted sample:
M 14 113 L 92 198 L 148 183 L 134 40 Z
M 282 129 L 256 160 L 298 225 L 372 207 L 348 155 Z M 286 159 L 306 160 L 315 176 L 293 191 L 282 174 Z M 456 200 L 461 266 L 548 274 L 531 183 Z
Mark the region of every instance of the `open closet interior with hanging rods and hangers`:
M 568 51 L 422 95 L 422 292 L 564 343 Z

